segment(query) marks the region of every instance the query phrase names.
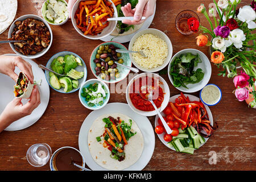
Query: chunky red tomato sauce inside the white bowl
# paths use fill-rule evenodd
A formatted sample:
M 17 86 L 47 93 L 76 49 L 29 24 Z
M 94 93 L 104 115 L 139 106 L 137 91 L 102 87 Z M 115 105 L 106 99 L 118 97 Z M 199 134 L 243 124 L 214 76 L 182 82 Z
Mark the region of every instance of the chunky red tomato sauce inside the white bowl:
M 150 101 L 144 100 L 148 96 L 148 89 L 150 88 L 153 93 L 152 100 L 155 103 L 156 107 L 160 107 L 164 100 L 163 89 L 159 86 L 158 80 L 152 77 L 143 77 L 138 78 L 133 82 L 133 85 L 130 86 L 129 96 L 134 107 L 142 111 L 153 111 L 154 106 Z

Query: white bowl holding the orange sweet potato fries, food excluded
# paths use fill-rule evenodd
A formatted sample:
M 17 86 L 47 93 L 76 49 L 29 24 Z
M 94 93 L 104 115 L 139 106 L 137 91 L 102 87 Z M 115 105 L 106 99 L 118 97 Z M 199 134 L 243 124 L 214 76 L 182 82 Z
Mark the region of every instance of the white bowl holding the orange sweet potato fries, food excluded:
M 84 0 L 77 0 L 75 5 L 72 8 L 72 13 L 71 13 L 72 24 L 73 24 L 73 27 L 76 29 L 76 31 L 79 32 L 79 34 L 81 36 L 84 36 L 85 38 L 88 38 L 88 39 L 94 39 L 94 40 L 102 39 L 102 38 L 105 38 L 106 36 L 110 35 L 114 31 L 115 27 L 117 26 L 117 21 L 110 21 L 108 27 L 105 27 L 104 30 L 102 30 L 100 35 L 94 35 L 94 36 L 93 35 L 84 35 L 84 32 L 82 32 L 79 28 L 77 28 L 75 13 L 76 13 L 77 8 L 79 7 L 80 1 L 84 1 Z M 112 7 L 114 9 L 114 14 L 113 14 L 112 18 L 116 18 L 116 17 L 118 17 L 117 8 L 115 7 L 114 3 L 111 0 L 109 0 L 109 1 L 112 3 Z

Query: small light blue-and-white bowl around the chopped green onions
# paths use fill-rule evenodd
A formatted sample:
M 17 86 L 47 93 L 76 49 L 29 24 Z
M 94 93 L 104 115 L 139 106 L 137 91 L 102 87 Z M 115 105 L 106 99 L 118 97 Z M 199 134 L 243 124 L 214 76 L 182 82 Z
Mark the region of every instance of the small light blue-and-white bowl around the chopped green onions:
M 101 106 L 89 106 L 87 104 L 87 101 L 85 101 L 85 98 L 81 96 L 81 93 L 82 93 L 82 88 L 85 88 L 87 86 L 89 86 L 90 84 L 94 84 L 95 82 L 97 83 L 101 83 L 101 85 L 104 85 L 104 88 L 107 90 L 107 95 L 106 95 L 106 99 L 104 100 L 104 104 L 102 104 Z M 108 104 L 109 102 L 109 98 L 110 98 L 110 92 L 109 92 L 109 87 L 108 85 L 105 84 L 105 82 L 101 81 L 101 80 L 98 80 L 98 79 L 90 79 L 90 80 L 87 80 L 85 81 L 84 83 L 81 84 L 81 87 L 79 89 L 79 100 L 81 102 L 81 104 L 83 106 L 85 106 L 87 109 L 90 109 L 90 110 L 98 110 L 98 109 L 101 109 L 102 107 L 104 107 L 106 104 Z

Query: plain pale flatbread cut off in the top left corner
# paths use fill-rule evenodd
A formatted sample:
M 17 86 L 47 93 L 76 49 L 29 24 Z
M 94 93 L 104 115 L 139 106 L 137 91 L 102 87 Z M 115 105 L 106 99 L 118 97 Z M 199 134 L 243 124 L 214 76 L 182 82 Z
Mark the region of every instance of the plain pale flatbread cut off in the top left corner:
M 0 1 L 0 34 L 13 22 L 18 7 L 17 0 Z

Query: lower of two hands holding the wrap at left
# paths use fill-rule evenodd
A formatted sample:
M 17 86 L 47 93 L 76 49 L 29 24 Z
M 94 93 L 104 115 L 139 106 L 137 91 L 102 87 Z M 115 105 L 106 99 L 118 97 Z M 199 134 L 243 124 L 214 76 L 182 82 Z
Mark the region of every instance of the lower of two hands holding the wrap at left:
M 26 104 L 22 104 L 22 98 L 14 98 L 7 106 L 5 110 L 0 115 L 0 132 L 4 130 L 14 121 L 17 121 L 20 118 L 30 115 L 32 111 L 38 107 L 40 104 L 40 93 L 37 86 L 34 86 L 32 90 L 30 101 Z

